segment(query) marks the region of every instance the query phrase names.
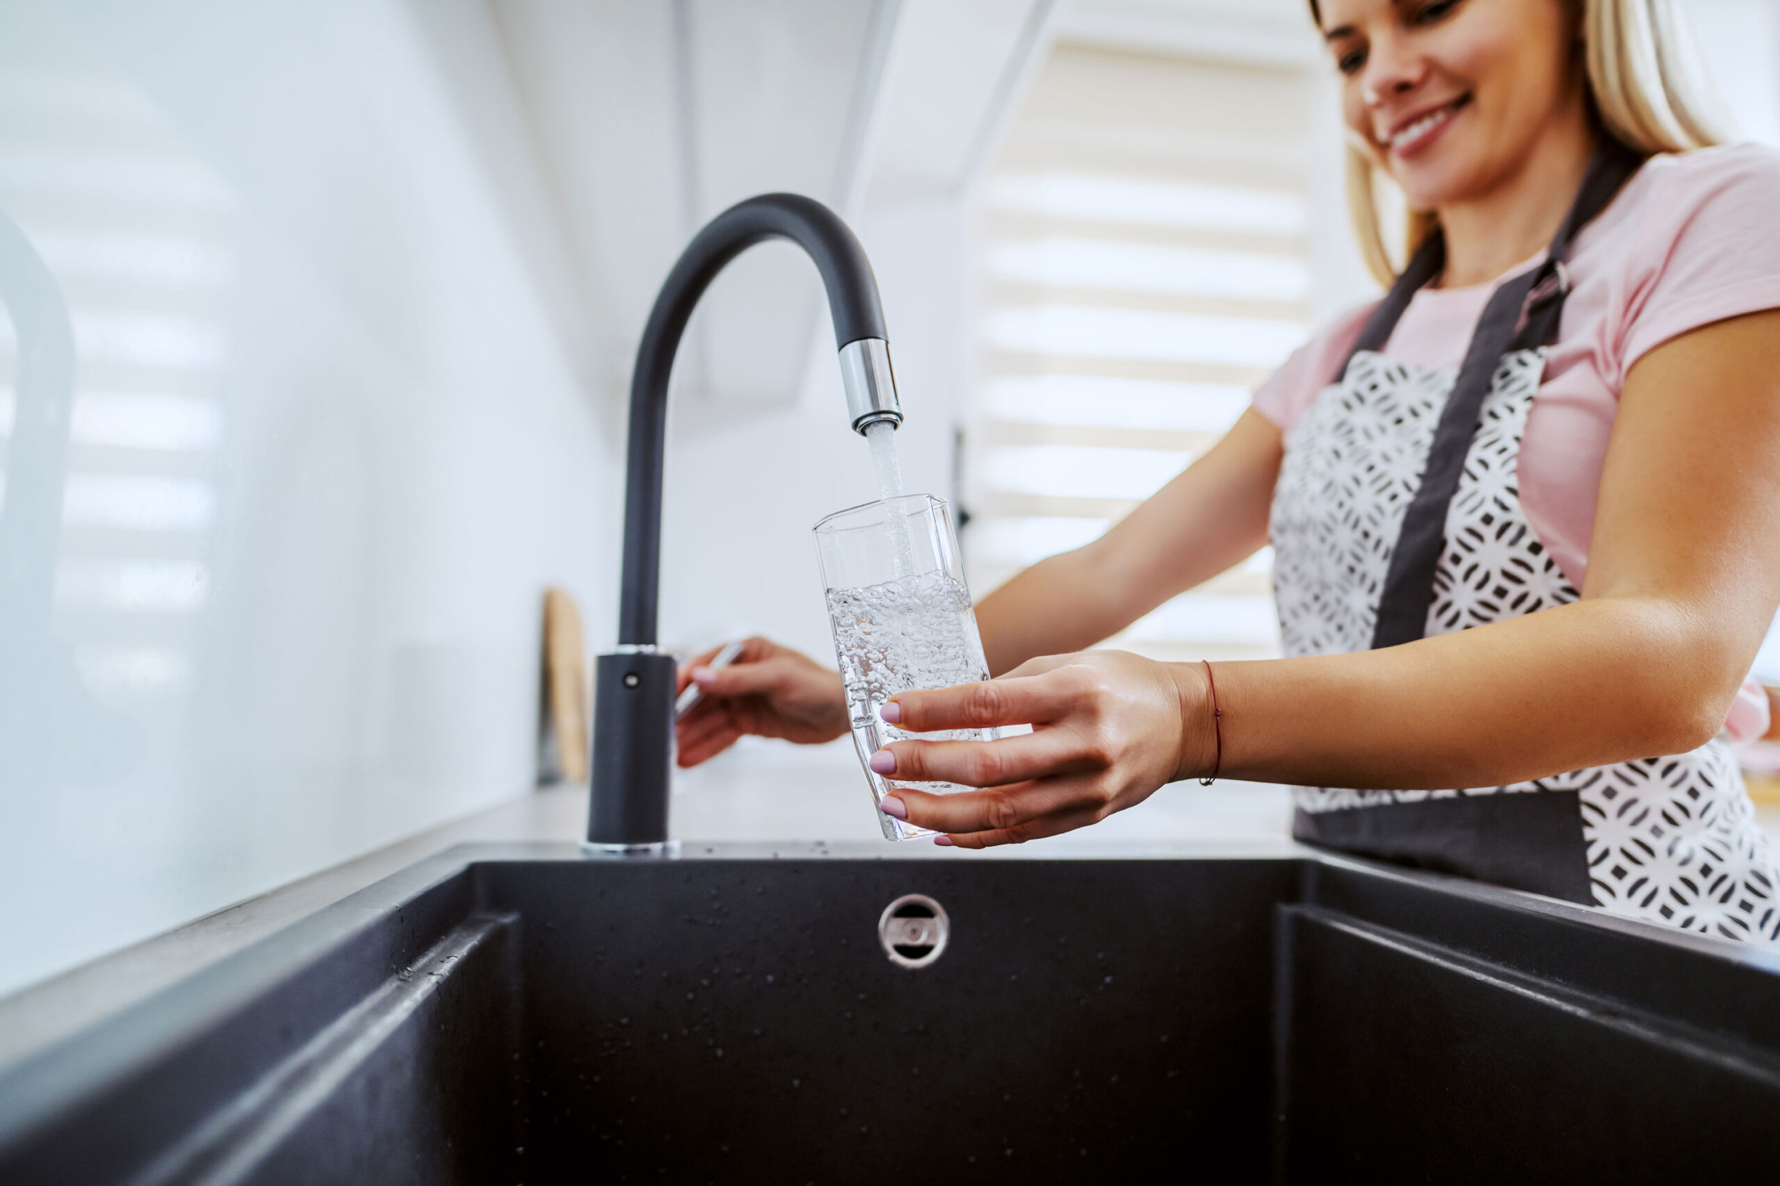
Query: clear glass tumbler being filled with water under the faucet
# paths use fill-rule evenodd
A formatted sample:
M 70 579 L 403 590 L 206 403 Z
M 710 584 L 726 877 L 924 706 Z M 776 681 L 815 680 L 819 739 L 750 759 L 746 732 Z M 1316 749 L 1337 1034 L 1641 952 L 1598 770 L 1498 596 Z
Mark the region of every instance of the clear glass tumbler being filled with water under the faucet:
M 867 765 L 886 741 L 993 741 L 999 729 L 906 733 L 878 715 L 883 702 L 911 688 L 949 688 L 990 677 L 970 608 L 958 537 L 945 500 L 908 494 L 849 510 L 815 525 L 828 624 L 847 692 L 853 743 L 865 766 L 872 804 L 897 789 Z M 910 782 L 943 795 L 970 788 Z M 878 813 L 885 839 L 933 836 L 929 829 Z

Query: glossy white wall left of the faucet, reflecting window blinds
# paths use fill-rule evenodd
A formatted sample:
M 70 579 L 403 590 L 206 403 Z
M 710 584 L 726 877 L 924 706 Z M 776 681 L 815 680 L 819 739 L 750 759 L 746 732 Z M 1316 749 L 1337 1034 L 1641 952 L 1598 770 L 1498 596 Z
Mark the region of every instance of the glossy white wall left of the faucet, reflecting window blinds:
M 618 462 L 409 9 L 0 5 L 0 213 L 77 347 L 61 523 L 0 452 L 0 990 L 529 786 Z

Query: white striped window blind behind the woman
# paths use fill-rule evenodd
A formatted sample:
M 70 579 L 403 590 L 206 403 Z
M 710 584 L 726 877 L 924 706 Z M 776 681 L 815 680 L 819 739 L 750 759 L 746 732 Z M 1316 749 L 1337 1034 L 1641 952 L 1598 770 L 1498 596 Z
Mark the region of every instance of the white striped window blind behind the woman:
M 1079 548 L 1209 448 L 1308 336 L 1308 84 L 1061 44 L 983 187 L 965 560 L 977 592 Z M 1269 553 L 1112 640 L 1278 651 Z

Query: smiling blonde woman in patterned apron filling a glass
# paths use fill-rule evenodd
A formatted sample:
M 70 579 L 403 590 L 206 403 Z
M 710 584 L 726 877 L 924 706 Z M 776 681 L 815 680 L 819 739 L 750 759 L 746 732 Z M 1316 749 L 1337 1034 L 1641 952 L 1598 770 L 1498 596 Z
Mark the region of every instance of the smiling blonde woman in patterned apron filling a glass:
M 1666 0 L 1312 16 L 1380 268 L 1372 171 L 1419 212 L 1404 274 L 1105 537 L 983 601 L 997 677 L 885 718 L 1034 733 L 886 747 L 899 782 L 983 789 L 885 811 L 983 848 L 1175 779 L 1290 782 L 1310 843 L 1780 941 L 1721 740 L 1766 727 L 1741 690 L 1780 603 L 1780 156 L 1711 146 Z M 1080 651 L 1269 537 L 1287 658 Z M 833 672 L 744 658 L 691 672 L 682 765 L 846 733 Z

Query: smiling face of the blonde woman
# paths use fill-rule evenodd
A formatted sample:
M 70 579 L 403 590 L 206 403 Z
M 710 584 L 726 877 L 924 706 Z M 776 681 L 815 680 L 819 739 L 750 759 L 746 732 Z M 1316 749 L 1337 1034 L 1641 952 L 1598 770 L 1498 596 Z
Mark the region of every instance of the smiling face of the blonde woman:
M 1577 4 L 1321 0 L 1342 116 L 1413 210 L 1488 196 L 1586 124 Z

